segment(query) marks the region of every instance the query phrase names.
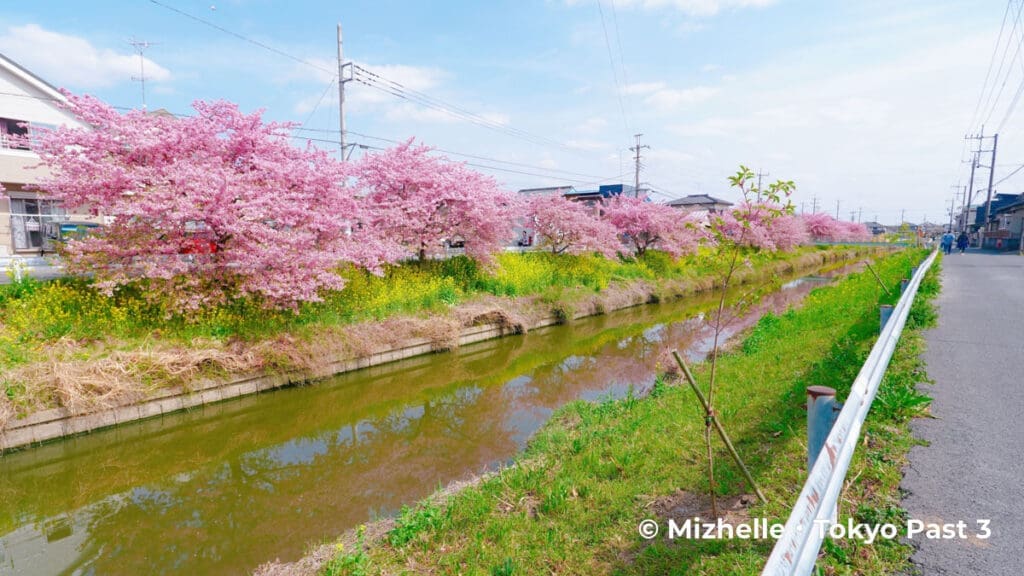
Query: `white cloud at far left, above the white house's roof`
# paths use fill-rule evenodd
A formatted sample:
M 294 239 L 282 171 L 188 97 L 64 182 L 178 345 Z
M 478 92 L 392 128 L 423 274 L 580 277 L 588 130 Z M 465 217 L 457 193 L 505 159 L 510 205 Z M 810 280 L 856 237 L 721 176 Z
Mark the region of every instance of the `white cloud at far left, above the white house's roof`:
M 139 75 L 138 55 L 97 48 L 88 40 L 46 30 L 38 25 L 14 26 L 0 35 L 0 52 L 46 79 L 69 88 L 103 88 Z M 147 82 L 166 82 L 171 73 L 145 58 Z

